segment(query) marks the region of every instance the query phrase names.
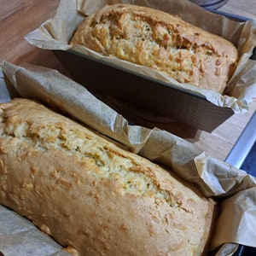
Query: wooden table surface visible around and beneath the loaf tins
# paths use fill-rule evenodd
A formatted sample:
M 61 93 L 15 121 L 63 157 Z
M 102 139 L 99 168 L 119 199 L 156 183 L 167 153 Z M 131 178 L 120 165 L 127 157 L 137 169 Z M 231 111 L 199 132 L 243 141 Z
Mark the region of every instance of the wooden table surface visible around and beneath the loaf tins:
M 24 39 L 27 32 L 40 26 L 55 15 L 60 0 L 0 0 L 0 62 L 21 62 L 50 67 L 67 74 L 61 63 L 50 51 L 38 49 Z M 221 9 L 235 15 L 256 19 L 255 0 L 230 0 Z M 1 93 L 1 92 L 0 92 Z M 235 114 L 211 133 L 197 130 L 191 132 L 185 125 L 172 127 L 172 133 L 197 144 L 207 154 L 224 160 L 236 143 L 241 132 L 256 109 L 256 100 L 247 113 Z

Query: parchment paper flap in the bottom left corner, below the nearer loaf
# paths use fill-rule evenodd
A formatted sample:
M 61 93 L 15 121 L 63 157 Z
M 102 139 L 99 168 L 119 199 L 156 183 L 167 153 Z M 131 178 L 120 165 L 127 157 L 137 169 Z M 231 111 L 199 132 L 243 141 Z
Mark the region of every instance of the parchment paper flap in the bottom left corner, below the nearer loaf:
M 60 244 L 38 230 L 37 227 L 26 218 L 22 218 L 17 213 L 1 205 L 0 224 L 0 252 L 3 253 L 4 256 L 72 255 L 67 252 L 66 248 L 62 248 Z M 20 249 L 22 249 L 21 253 Z

